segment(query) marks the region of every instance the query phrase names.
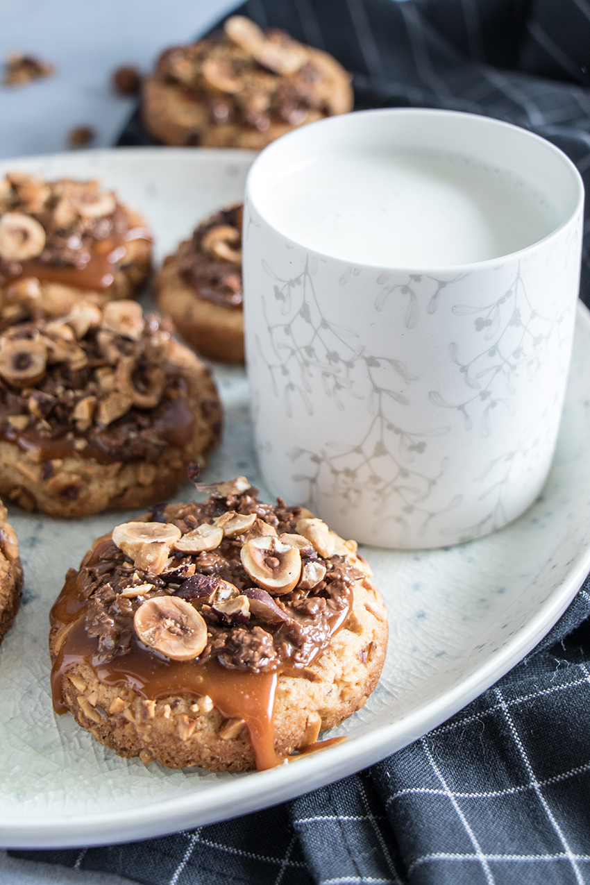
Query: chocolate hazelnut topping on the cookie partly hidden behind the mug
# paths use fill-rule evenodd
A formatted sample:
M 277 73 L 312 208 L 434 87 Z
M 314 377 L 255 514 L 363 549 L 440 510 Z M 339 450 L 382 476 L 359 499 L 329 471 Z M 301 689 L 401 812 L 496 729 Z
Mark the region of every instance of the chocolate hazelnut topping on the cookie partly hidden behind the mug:
M 211 215 L 180 244 L 181 278 L 199 296 L 224 307 L 241 309 L 241 220 L 243 205 Z

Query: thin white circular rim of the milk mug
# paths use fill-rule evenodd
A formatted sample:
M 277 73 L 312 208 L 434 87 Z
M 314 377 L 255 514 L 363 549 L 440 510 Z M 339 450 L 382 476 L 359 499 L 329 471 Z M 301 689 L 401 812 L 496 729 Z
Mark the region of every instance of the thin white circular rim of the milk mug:
M 264 166 L 268 163 L 269 160 L 272 161 L 274 155 L 276 155 L 280 150 L 284 150 L 284 145 L 287 142 L 292 142 L 295 139 L 297 140 L 310 140 L 313 138 L 313 133 L 318 131 L 318 127 L 322 129 L 326 129 L 326 127 L 338 127 L 343 125 L 344 120 L 350 119 L 358 119 L 359 127 L 362 126 L 361 120 L 366 118 L 367 116 L 376 118 L 376 117 L 441 117 L 444 116 L 447 119 L 456 118 L 456 119 L 473 119 L 477 121 L 477 125 L 481 126 L 489 126 L 491 128 L 497 128 L 500 131 L 509 131 L 516 132 L 518 137 L 521 137 L 525 140 L 532 141 L 537 147 L 542 147 L 544 150 L 548 152 L 549 155 L 553 155 L 558 163 L 561 163 L 565 169 L 570 173 L 571 179 L 574 183 L 574 187 L 576 189 L 576 198 L 574 200 L 574 204 L 570 210 L 566 214 L 566 217 L 561 220 L 556 227 L 540 240 L 535 240 L 529 245 L 524 246 L 522 249 L 515 250 L 514 252 L 507 252 L 503 255 L 496 256 L 495 258 L 485 258 L 481 261 L 470 261 L 464 262 L 462 264 L 448 264 L 448 265 L 379 265 L 373 262 L 367 261 L 357 261 L 357 260 L 346 260 L 345 258 L 339 258 L 338 256 L 332 255 L 329 252 L 314 249 L 312 246 L 308 246 L 299 240 L 295 240 L 293 236 L 286 234 L 280 227 L 277 227 L 272 223 L 266 216 L 264 212 L 261 211 L 260 206 L 257 204 L 256 196 L 253 194 L 253 191 L 257 189 L 257 177 L 262 176 L 264 179 Z M 353 124 L 354 125 L 354 124 Z M 584 200 L 585 200 L 585 189 L 584 189 L 584 181 L 579 173 L 577 166 L 573 163 L 571 158 L 567 156 L 566 153 L 563 152 L 560 148 L 558 148 L 553 142 L 549 142 L 547 138 L 543 138 L 541 135 L 537 135 L 536 133 L 531 132 L 529 129 L 525 129 L 524 127 L 516 126 L 513 123 L 508 123 L 504 120 L 495 119 L 494 117 L 485 117 L 482 114 L 474 114 L 470 112 L 464 111 L 449 111 L 443 108 L 373 108 L 365 111 L 353 111 L 346 114 L 339 114 L 334 117 L 326 117 L 324 119 L 317 120 L 313 123 L 306 124 L 302 127 L 298 127 L 297 129 L 292 130 L 287 133 L 287 135 L 281 135 L 280 138 L 276 139 L 274 142 L 271 142 L 267 147 L 264 148 L 258 154 L 254 163 L 251 165 L 248 173 L 248 177 L 246 180 L 245 186 L 245 204 L 251 204 L 255 209 L 257 214 L 261 219 L 264 219 L 264 223 L 272 229 L 272 231 L 279 234 L 283 237 L 287 242 L 292 243 L 295 247 L 299 249 L 303 249 L 311 255 L 316 255 L 318 258 L 325 258 L 333 262 L 340 262 L 343 266 L 348 266 L 350 264 L 354 264 L 354 266 L 359 268 L 378 268 L 383 271 L 390 272 L 409 272 L 409 273 L 448 273 L 448 272 L 461 272 L 467 270 L 479 270 L 485 269 L 489 267 L 497 266 L 499 262 L 505 262 L 507 260 L 517 260 L 520 258 L 525 258 L 526 255 L 531 254 L 533 251 L 538 250 L 540 248 L 544 248 L 548 245 L 549 242 L 559 237 L 563 230 L 566 227 L 569 227 L 573 221 L 579 218 L 579 215 L 583 212 L 584 209 Z

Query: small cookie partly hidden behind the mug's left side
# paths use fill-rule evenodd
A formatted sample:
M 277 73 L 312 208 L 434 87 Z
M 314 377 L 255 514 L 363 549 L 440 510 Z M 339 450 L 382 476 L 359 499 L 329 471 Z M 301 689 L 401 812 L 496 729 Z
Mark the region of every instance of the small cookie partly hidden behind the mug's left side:
M 203 357 L 224 363 L 244 360 L 242 209 L 236 204 L 205 219 L 156 280 L 158 304 L 179 334 Z

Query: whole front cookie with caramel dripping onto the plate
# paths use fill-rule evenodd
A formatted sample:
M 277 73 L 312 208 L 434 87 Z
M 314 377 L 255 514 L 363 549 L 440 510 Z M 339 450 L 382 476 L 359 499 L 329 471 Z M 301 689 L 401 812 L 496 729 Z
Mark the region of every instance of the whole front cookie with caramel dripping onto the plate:
M 67 573 L 54 706 L 146 764 L 271 768 L 363 706 L 385 607 L 356 543 L 309 511 L 245 477 L 197 489 L 209 500 L 115 527 Z

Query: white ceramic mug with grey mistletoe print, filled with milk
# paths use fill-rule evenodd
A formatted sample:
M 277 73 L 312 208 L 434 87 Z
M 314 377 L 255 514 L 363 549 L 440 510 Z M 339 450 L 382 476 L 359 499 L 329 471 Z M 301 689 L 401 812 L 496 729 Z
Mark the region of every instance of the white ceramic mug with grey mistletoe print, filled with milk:
M 375 150 L 378 165 L 389 156 L 406 165 L 434 158 L 454 164 L 451 177 L 480 171 L 481 188 L 492 201 L 497 191 L 506 210 L 498 229 L 507 254 L 464 261 L 463 242 L 479 256 L 469 207 L 460 219 L 468 235 L 445 245 L 443 189 L 432 213 L 423 206 L 425 231 L 434 219 L 441 242 L 431 231 L 424 249 L 422 237 L 404 245 L 398 225 L 395 243 L 410 258 L 396 253 L 387 263 L 387 237 L 372 247 L 381 229 L 373 215 L 360 224 L 358 212 L 346 217 L 349 192 L 351 216 L 363 202 L 365 174 L 367 204 L 397 224 L 389 191 L 401 191 L 384 178 L 378 194 L 377 167 L 367 165 Z M 355 158 L 364 172 L 353 188 L 346 169 Z M 540 239 L 529 234 L 536 242 L 518 239 L 524 222 L 506 208 L 513 196 L 523 212 L 529 203 L 547 210 Z M 269 489 L 339 534 L 384 547 L 459 543 L 524 512 L 556 443 L 583 202 L 579 173 L 555 146 L 471 114 L 360 112 L 266 148 L 246 187 L 243 269 L 257 452 Z M 441 253 L 435 265 L 431 253 Z

